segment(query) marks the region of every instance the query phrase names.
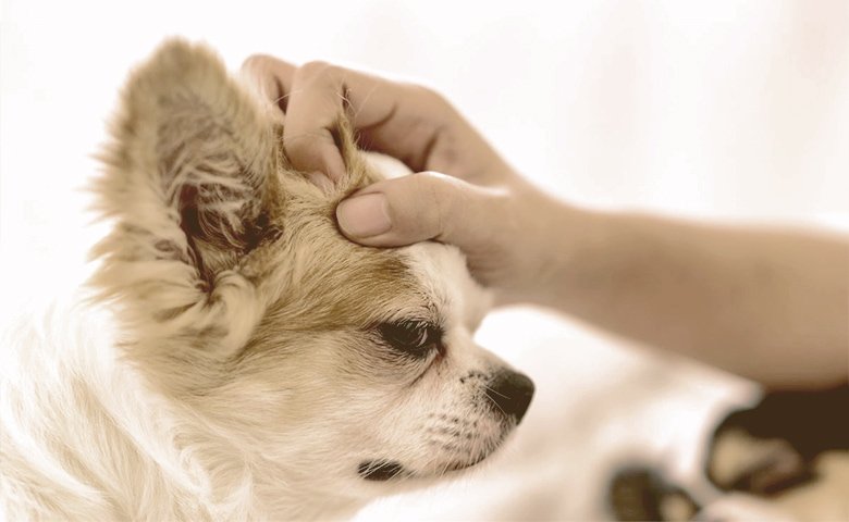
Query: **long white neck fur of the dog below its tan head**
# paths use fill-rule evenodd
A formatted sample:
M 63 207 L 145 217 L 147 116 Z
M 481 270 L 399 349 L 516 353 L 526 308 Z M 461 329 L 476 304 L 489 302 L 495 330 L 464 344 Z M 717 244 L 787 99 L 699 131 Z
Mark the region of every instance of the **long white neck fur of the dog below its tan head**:
M 4 370 L 0 405 L 15 413 L 2 417 L 0 489 L 9 504 L 0 518 L 316 519 L 345 518 L 362 506 L 309 498 L 273 470 L 251 465 L 200 412 L 177 411 L 186 407 L 143 389 L 103 338 L 104 316 L 88 319 L 73 330 L 65 318 L 62 328 L 33 324 L 15 335 L 27 339 L 15 356 L 29 359 L 19 368 L 45 380 L 15 375 L 15 363 Z

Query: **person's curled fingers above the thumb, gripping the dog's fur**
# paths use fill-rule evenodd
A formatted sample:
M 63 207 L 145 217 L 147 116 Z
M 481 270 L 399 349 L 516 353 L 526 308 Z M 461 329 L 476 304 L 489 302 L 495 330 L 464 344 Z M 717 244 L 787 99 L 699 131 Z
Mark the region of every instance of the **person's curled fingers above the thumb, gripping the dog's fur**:
M 260 76 L 266 96 L 286 112 L 283 140 L 292 164 L 334 181 L 344 175 L 333 139 L 343 115 L 357 130 L 360 145 L 420 171 L 428 166 L 450 114 L 447 102 L 432 90 L 324 62 L 295 67 L 256 55 L 243 69 Z

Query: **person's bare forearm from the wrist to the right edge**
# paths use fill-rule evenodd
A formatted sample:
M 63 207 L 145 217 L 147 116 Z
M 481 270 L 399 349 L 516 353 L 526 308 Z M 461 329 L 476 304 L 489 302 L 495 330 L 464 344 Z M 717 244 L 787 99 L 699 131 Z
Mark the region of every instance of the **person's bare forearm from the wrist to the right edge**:
M 768 386 L 849 380 L 849 244 L 563 206 L 537 301 Z

